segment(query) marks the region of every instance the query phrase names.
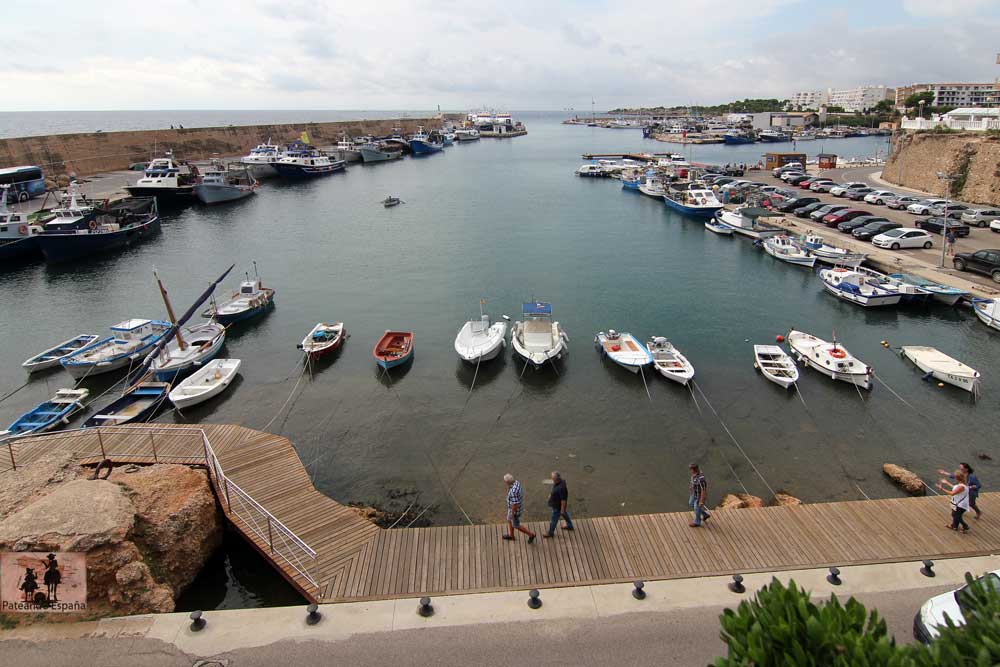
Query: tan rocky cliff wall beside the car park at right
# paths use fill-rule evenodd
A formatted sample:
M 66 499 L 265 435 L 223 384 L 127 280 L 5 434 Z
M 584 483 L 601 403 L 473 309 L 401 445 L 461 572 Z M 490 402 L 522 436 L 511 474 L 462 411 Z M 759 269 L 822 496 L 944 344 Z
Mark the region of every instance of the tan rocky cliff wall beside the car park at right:
M 982 132 L 897 135 L 882 178 L 924 192 L 945 193 L 938 172 L 951 174 L 951 196 L 976 204 L 1000 205 L 1000 137 Z

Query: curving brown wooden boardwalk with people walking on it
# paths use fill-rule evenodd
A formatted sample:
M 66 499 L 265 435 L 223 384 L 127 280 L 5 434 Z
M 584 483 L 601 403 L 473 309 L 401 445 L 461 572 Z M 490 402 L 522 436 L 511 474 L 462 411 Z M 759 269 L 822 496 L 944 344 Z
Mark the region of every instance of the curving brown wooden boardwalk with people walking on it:
M 322 602 L 1000 552 L 992 493 L 980 499 L 985 518 L 972 521 L 968 535 L 945 529 L 947 499 L 926 497 L 720 510 L 699 529 L 688 527 L 688 513 L 578 519 L 575 531 L 559 530 L 551 540 L 541 537 L 547 522 L 530 522 L 539 537 L 529 545 L 520 534 L 501 539 L 502 525 L 380 529 L 317 491 L 287 439 L 240 426 L 120 428 L 104 430 L 100 442 L 95 431 L 67 432 L 11 448 L 0 452 L 0 470 L 10 471 L 11 455 L 20 467 L 52 449 L 87 462 L 106 456 L 202 465 L 211 452 L 217 463 L 208 454 L 208 467 L 227 518 L 286 579 Z

